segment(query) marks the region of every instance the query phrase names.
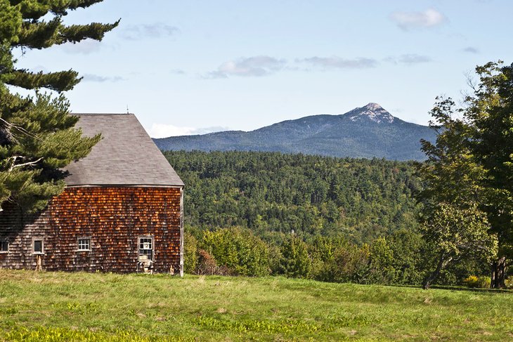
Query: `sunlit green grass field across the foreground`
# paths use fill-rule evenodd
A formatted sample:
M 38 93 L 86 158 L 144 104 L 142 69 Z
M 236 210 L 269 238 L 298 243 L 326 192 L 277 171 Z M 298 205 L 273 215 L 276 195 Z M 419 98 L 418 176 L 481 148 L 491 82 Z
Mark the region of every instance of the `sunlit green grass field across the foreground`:
M 0 341 L 507 341 L 513 294 L 0 270 Z

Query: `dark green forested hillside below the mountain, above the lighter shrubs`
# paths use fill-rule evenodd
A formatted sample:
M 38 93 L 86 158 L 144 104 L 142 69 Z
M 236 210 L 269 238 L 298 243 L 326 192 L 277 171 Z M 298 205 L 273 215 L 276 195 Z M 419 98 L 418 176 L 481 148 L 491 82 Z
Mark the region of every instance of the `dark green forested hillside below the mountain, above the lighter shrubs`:
M 186 224 L 349 237 L 415 229 L 411 162 L 278 152 L 164 152 L 186 183 Z M 276 234 L 278 232 L 278 234 Z

